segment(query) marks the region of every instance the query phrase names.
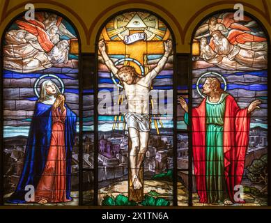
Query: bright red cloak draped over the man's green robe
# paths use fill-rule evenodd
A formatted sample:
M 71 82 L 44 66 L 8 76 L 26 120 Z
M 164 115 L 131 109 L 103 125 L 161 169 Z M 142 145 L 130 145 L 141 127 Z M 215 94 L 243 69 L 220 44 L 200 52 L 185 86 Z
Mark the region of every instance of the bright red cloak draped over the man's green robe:
M 234 186 L 240 185 L 249 143 L 250 117 L 231 95 L 226 96 L 224 114 L 224 175 L 229 199 L 234 201 Z M 192 147 L 196 189 L 201 203 L 208 203 L 206 192 L 206 98 L 192 109 Z

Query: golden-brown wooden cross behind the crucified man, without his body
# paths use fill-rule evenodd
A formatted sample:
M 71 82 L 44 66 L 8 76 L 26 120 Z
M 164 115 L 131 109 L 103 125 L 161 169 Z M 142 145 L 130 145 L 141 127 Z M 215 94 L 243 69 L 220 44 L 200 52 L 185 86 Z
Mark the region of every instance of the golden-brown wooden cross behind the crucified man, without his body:
M 140 31 L 130 31 L 130 35 L 132 33 L 139 33 Z M 105 37 L 105 35 L 104 35 Z M 108 55 L 128 55 L 128 57 L 132 59 L 136 59 L 144 66 L 144 56 L 147 54 L 164 54 L 164 41 L 144 41 L 139 40 L 130 45 L 126 45 L 123 41 L 112 41 L 104 38 L 104 43 L 107 46 L 107 54 Z M 130 66 L 133 66 L 137 73 L 141 74 L 141 70 L 139 66 L 134 66 L 132 62 L 130 62 Z M 130 154 L 131 149 L 131 141 L 129 139 L 128 142 L 128 154 Z M 140 171 L 139 171 L 139 180 L 142 185 L 144 185 L 144 164 L 142 163 Z M 132 177 L 131 170 L 129 168 L 128 174 L 128 183 L 129 183 L 129 192 L 128 197 L 130 200 L 134 201 L 142 201 L 144 199 L 144 187 L 141 187 L 139 190 L 134 190 L 132 185 Z

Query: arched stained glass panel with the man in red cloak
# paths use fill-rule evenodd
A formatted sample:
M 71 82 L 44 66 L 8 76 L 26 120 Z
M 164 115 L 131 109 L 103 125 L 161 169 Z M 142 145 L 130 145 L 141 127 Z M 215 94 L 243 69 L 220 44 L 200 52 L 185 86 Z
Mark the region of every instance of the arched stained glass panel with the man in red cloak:
M 195 206 L 267 205 L 267 41 L 256 20 L 235 20 L 234 13 L 212 15 L 195 31 Z

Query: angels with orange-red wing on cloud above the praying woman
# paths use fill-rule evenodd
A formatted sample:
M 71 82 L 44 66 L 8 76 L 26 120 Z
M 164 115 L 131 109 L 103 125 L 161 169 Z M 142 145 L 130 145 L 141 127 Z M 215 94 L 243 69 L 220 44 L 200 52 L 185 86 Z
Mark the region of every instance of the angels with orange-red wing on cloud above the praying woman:
M 69 41 L 76 37 L 66 29 L 61 17 L 36 13 L 35 20 L 17 20 L 15 23 L 19 29 L 6 33 L 5 69 L 33 72 L 68 63 Z M 61 36 L 65 39 L 61 40 Z

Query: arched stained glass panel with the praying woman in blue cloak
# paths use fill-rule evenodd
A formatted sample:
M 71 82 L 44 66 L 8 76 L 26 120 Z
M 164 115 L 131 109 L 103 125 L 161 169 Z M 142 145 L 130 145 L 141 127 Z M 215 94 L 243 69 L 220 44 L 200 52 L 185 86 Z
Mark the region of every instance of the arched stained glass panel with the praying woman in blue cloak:
M 4 203 L 78 205 L 77 32 L 60 15 L 36 11 L 4 35 Z

